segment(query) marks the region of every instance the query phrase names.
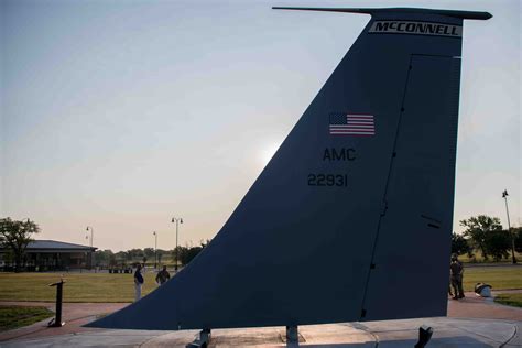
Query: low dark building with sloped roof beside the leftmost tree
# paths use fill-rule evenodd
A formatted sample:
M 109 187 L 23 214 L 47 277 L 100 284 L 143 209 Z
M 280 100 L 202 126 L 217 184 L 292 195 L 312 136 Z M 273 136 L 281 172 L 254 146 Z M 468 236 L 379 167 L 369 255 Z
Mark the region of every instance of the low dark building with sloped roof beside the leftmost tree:
M 23 270 L 62 271 L 70 269 L 91 269 L 95 247 L 67 243 L 56 240 L 33 240 L 25 249 Z M 9 250 L 0 247 L 0 269 L 12 271 L 14 264 Z

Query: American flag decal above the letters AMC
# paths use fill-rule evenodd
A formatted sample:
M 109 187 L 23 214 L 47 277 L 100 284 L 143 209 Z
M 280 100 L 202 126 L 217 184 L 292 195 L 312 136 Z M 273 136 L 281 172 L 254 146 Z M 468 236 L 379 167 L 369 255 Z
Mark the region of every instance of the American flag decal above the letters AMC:
M 376 135 L 373 115 L 330 113 L 329 132 L 331 135 Z

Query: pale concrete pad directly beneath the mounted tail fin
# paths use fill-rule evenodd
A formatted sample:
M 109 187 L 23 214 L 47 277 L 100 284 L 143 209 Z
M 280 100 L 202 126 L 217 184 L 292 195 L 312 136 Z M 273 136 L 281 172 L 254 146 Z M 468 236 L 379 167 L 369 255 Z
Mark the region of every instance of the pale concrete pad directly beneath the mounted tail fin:
M 421 318 L 300 326 L 300 344 L 283 341 L 284 327 L 216 329 L 209 347 L 413 347 L 421 325 L 434 328 L 428 347 L 516 347 L 522 323 L 491 319 Z M 197 330 L 106 330 L 4 341 L 1 347 L 185 347 Z M 520 331 L 519 331 L 520 333 Z M 519 346 L 520 347 L 520 346 Z

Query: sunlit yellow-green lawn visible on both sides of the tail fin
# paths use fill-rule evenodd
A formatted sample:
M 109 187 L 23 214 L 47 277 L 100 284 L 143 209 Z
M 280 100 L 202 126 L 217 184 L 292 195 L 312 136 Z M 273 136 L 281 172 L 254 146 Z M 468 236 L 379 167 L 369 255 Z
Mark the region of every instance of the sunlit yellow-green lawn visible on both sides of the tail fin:
M 143 295 L 157 287 L 155 273 L 148 272 Z M 132 274 L 66 273 L 65 302 L 132 302 Z M 448 275 L 449 280 L 449 275 Z M 0 301 L 55 301 L 58 273 L 0 273 Z M 474 291 L 476 283 L 488 283 L 493 290 L 522 289 L 522 267 L 465 267 L 464 289 Z

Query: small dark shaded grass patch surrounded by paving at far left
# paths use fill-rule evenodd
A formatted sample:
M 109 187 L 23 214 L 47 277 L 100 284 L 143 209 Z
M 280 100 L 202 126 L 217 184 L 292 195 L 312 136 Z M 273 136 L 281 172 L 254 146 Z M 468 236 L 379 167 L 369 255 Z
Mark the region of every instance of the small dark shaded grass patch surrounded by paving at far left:
M 0 331 L 28 326 L 52 316 L 54 313 L 45 307 L 0 306 Z

